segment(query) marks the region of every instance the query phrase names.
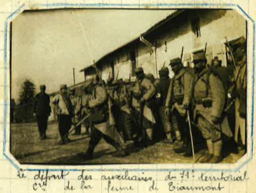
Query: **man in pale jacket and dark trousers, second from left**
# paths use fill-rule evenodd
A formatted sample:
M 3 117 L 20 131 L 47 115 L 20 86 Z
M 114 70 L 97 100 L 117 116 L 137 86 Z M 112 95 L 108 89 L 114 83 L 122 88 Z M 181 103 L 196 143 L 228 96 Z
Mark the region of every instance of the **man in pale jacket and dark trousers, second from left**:
M 61 145 L 69 143 L 67 133 L 72 125 L 73 108 L 72 103 L 67 95 L 67 85 L 61 85 L 61 92 L 52 99 L 52 104 L 57 108 L 58 122 L 59 122 L 59 134 L 61 136 Z

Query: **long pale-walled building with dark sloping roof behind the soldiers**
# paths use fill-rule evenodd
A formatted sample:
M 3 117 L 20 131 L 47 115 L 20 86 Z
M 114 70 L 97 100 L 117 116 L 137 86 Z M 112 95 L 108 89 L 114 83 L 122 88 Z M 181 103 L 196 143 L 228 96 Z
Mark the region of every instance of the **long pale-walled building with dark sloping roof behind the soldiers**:
M 136 67 L 158 77 L 158 70 L 163 65 L 169 67 L 170 60 L 182 53 L 184 65 L 193 66 L 191 60 L 197 52 L 205 52 L 209 62 L 218 56 L 227 65 L 230 52 L 226 41 L 246 38 L 246 29 L 246 20 L 234 10 L 178 9 L 134 40 L 104 55 L 95 65 L 103 80 L 116 78 L 117 74 L 119 79 L 134 79 Z M 93 64 L 81 69 L 85 81 L 91 79 L 94 70 Z

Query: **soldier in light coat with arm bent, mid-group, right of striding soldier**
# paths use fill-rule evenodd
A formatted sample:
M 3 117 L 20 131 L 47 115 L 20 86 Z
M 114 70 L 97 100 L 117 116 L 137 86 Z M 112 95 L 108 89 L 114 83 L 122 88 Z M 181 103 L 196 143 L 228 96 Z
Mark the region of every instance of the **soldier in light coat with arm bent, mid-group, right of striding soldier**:
M 149 101 L 156 94 L 156 89 L 151 80 L 146 77 L 142 67 L 135 70 L 136 84 L 133 88 L 132 106 L 136 109 L 137 118 L 140 119 L 141 135 L 143 140 L 153 140 L 153 124 L 156 123 L 149 106 Z M 146 142 L 147 143 L 147 142 Z

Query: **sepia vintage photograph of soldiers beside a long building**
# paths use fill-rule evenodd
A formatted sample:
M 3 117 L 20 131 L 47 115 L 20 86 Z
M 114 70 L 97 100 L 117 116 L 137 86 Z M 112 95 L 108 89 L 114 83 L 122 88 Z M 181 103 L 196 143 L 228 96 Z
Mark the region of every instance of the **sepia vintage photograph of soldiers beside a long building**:
M 221 164 L 247 153 L 237 11 L 25 11 L 10 33 L 10 152 L 21 164 Z

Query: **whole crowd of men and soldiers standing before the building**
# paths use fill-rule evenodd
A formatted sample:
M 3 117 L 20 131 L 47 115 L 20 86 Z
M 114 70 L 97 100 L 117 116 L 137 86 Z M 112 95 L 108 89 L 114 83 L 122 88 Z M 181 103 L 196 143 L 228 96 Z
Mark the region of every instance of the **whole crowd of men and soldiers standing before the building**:
M 193 69 L 184 67 L 182 58 L 174 58 L 170 61 L 172 79 L 167 67 L 159 70 L 159 79 L 144 74 L 139 67 L 136 82 L 108 79 L 105 83 L 95 67 L 95 79 L 84 86 L 82 96 L 76 96 L 75 90 L 68 94 L 67 86 L 61 85 L 60 93 L 52 99 L 57 109 L 61 144 L 70 141 L 72 124 L 74 135 L 80 135 L 83 123 L 86 133 L 90 128 L 88 149 L 79 154 L 84 159 L 93 158 L 102 138 L 117 150 L 117 157 L 129 155 L 124 147 L 126 142 L 132 141 L 141 148 L 159 140 L 168 143 L 182 140 L 175 153 L 192 157 L 201 135 L 208 151 L 200 162 L 221 162 L 224 139 L 235 139 L 233 144 L 238 144 L 240 133 L 241 147 L 247 146 L 245 41 L 233 48 L 233 55 L 234 70 L 223 67 L 218 57 L 207 61 L 204 53 L 194 54 Z M 35 97 L 35 113 L 40 136 L 45 139 L 50 99 L 45 94 L 45 85 L 40 89 Z

